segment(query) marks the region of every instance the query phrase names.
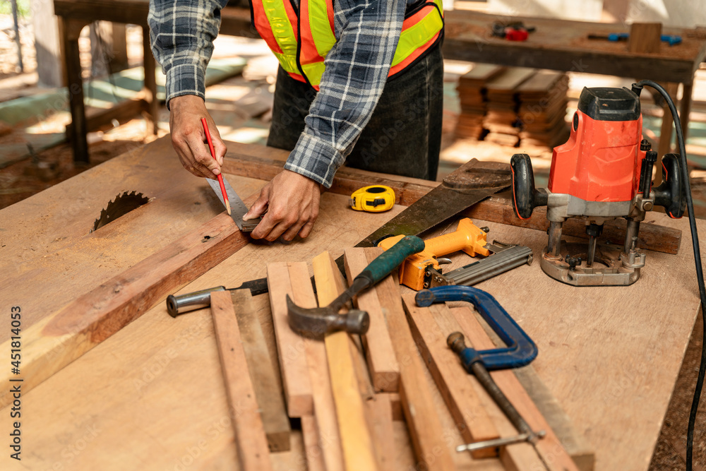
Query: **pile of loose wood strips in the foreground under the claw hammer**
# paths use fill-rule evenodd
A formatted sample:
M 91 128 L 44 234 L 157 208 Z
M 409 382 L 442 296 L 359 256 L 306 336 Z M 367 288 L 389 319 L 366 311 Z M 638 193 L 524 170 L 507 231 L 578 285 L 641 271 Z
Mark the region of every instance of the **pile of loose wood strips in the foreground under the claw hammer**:
M 381 253 L 377 247 L 347 249 L 348 283 L 352 283 Z M 455 314 L 444 304 L 417 307 L 414 294 L 407 294 L 403 303 L 399 280 L 393 274 L 354 300 L 357 308 L 368 312 L 371 319 L 368 332 L 361 338 L 340 331 L 326 335 L 323 341 L 300 337 L 289 326 L 286 297 L 292 297 L 303 308 L 312 308 L 317 305 L 316 297 L 319 306 L 328 306 L 345 290 L 345 280 L 328 252 L 316 256 L 312 266 L 316 296 L 306 263 L 268 264 L 277 362 L 270 362 L 266 355 L 257 360 L 249 357 L 248 350 L 253 349 L 252 345 L 246 345 L 245 353 L 241 352 L 238 324 L 244 332 L 249 330 L 244 325 L 246 318 L 256 318 L 252 314 L 253 308 L 246 309 L 249 312 L 236 321 L 229 294 L 225 292 L 214 297 L 212 311 L 217 333 L 222 334 L 219 346 L 224 370 L 244 372 L 250 366 L 253 378 L 254 386 L 246 384 L 248 388 L 238 390 L 247 401 L 237 402 L 234 378 L 226 375 L 241 469 L 269 469 L 267 443 L 270 452 L 280 451 L 288 444 L 278 443 L 273 447 L 275 436 L 288 437 L 288 429 L 283 429 L 280 424 L 284 412 L 277 415 L 277 424 L 273 417 L 265 420 L 264 410 L 262 418 L 257 415 L 255 399 L 263 406 L 265 403 L 261 398 L 268 396 L 263 393 L 263 388 L 258 390 L 257 387 L 263 384 L 263 381 L 257 381 L 259 373 L 256 370 L 261 364 L 281 366 L 284 400 L 279 388 L 269 391 L 269 396 L 280 399 L 280 404 L 275 404 L 280 411 L 284 409 L 282 404 L 286 404 L 289 417 L 301 419 L 306 469 L 309 470 L 400 469 L 394 421 L 407 424 L 414 465 L 440 471 L 465 468 L 473 463 L 469 455 L 453 453 L 453 445 L 459 441 L 496 439 L 517 433 L 475 378 L 463 371 L 445 343 L 450 331 L 462 330 L 469 336 L 480 335 L 473 338 L 474 345 L 481 345 L 481 342 L 486 342 L 482 344 L 484 348 L 492 345 L 480 324 L 465 326 L 464 323 L 470 321 L 464 318 L 474 318 L 472 311 L 465 308 L 467 312 L 462 312 L 455 320 Z M 227 313 L 219 310 L 224 304 L 220 298 L 228 304 Z M 240 304 L 247 303 L 239 300 L 237 304 L 237 310 L 241 310 Z M 342 314 L 346 310 L 342 309 Z M 228 322 L 229 328 L 220 328 L 225 327 L 225 324 L 219 325 L 223 322 Z M 237 370 L 229 370 L 229 362 L 236 360 Z M 258 365 L 257 369 L 253 369 L 254 364 Z M 512 371 L 493 372 L 493 377 L 499 382 L 505 378 L 503 389 L 513 398 L 513 404 L 527 416 L 532 427 L 546 430 L 548 436 L 536 449 L 529 443 L 520 443 L 499 455 L 497 448 L 486 448 L 473 453 L 473 458 L 494 458 L 493 464 L 500 465 L 499 469 L 518 471 L 592 469 L 593 454 L 585 446 L 575 446 L 570 453 L 563 448 Z M 450 411 L 459 439 L 449 439 L 453 433 L 448 430 L 449 424 L 443 423 L 442 416 L 448 414 L 448 411 L 441 412 L 443 403 Z M 256 438 L 247 435 L 247 431 Z M 549 451 L 551 456 L 546 454 Z M 585 463 L 579 468 L 572 457 Z M 548 462 L 557 466 L 545 465 Z

